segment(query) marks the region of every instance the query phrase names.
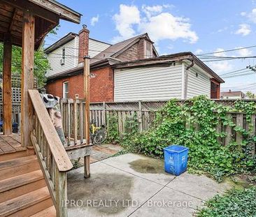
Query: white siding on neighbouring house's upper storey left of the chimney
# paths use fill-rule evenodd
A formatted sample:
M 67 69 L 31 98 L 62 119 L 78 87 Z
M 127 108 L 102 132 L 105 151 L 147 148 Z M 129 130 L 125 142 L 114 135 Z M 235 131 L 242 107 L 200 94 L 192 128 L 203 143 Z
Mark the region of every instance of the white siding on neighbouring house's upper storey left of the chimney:
M 62 47 L 57 48 L 52 53 L 48 54 L 48 61 L 50 63 L 51 69 L 46 73 L 46 76 L 55 75 L 56 73 L 69 70 L 78 65 L 78 50 L 76 48 L 78 38 L 70 40 L 68 43 Z M 65 63 L 60 64 L 62 59 L 62 49 L 65 47 Z

